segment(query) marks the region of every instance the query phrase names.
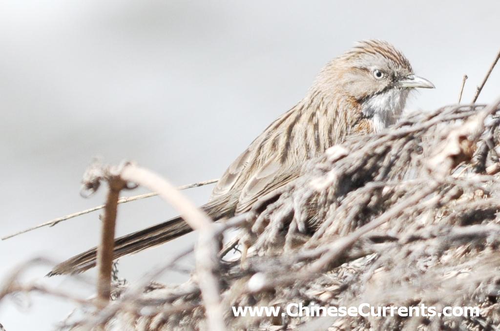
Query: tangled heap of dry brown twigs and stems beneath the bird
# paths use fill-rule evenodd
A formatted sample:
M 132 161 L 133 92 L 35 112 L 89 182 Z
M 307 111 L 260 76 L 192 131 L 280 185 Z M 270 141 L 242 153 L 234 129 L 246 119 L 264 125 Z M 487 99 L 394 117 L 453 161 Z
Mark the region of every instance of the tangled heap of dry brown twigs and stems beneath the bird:
M 222 224 L 210 222 L 147 169 L 93 164 L 87 188 L 97 189 L 101 181 L 110 187 L 96 299 L 19 284 L 21 269 L 3 283 L 0 299 L 33 290 L 73 299 L 79 317 L 70 316 L 61 329 L 497 329 L 499 105 L 500 99 L 409 114 L 380 134 L 335 145 L 304 164 L 298 179 L 262 196 L 251 212 Z M 130 183 L 157 191 L 199 235 L 193 249 L 134 284 L 109 281 L 106 255 L 112 250 L 118 192 L 133 188 Z M 249 247 L 243 261 L 224 258 L 234 240 L 220 250 L 223 234 L 234 228 Z M 154 282 L 192 250 L 196 267 L 187 282 Z M 292 302 L 479 306 L 481 314 L 234 317 L 231 309 L 284 309 Z

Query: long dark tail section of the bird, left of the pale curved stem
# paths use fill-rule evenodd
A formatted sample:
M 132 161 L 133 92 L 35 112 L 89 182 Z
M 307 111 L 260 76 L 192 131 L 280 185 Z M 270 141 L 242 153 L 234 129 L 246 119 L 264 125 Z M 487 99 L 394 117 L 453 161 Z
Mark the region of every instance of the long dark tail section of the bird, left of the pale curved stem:
M 191 231 L 192 228 L 180 216 L 146 227 L 115 239 L 113 259 L 170 241 Z M 97 247 L 90 248 L 57 264 L 47 276 L 83 272 L 95 266 L 96 258 Z

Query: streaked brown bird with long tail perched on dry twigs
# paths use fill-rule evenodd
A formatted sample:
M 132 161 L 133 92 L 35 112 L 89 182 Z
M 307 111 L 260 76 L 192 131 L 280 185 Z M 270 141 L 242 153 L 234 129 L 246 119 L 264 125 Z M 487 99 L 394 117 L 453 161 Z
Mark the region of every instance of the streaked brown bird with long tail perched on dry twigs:
M 434 88 L 414 74 L 392 44 L 363 40 L 319 71 L 305 96 L 276 118 L 229 165 L 201 206 L 214 221 L 251 209 L 259 196 L 294 180 L 302 164 L 352 136 L 380 132 L 401 115 L 415 88 Z M 116 259 L 192 231 L 177 216 L 115 239 Z M 56 265 L 48 275 L 95 266 L 96 247 Z

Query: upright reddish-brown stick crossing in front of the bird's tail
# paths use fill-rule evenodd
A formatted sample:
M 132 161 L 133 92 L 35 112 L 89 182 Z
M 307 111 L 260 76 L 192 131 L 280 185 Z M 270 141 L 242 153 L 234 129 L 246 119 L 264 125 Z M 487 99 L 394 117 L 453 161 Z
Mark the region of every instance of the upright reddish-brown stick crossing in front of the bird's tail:
M 101 227 L 100 244 L 97 247 L 97 304 L 104 307 L 109 302 L 111 295 L 111 270 L 113 264 L 114 229 L 116 225 L 116 210 L 120 191 L 126 187 L 126 181 L 119 175 L 108 179 L 104 208 L 104 219 Z

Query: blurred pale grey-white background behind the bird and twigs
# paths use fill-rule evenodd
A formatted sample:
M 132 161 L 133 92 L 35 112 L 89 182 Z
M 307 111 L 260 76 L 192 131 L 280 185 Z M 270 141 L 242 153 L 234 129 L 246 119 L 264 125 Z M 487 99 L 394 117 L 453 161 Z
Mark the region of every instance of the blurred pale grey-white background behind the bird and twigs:
M 494 0 L 3 0 L 0 235 L 102 203 L 102 192 L 78 195 L 93 156 L 136 160 L 176 184 L 218 177 L 356 40 L 392 42 L 436 85 L 408 108 L 456 102 L 464 73 L 469 102 L 500 47 L 498 12 Z M 478 101 L 491 101 L 499 86 L 497 67 Z M 201 204 L 210 190 L 187 194 Z M 159 198 L 121 205 L 117 234 L 174 214 Z M 31 257 L 61 261 L 94 246 L 97 216 L 0 241 L 0 284 Z M 133 281 L 192 240 L 122 258 L 120 275 Z M 76 292 L 67 277 L 43 278 L 49 269 L 29 269 L 23 279 Z M 0 322 L 7 331 L 52 329 L 72 306 L 17 295 L 0 303 Z

